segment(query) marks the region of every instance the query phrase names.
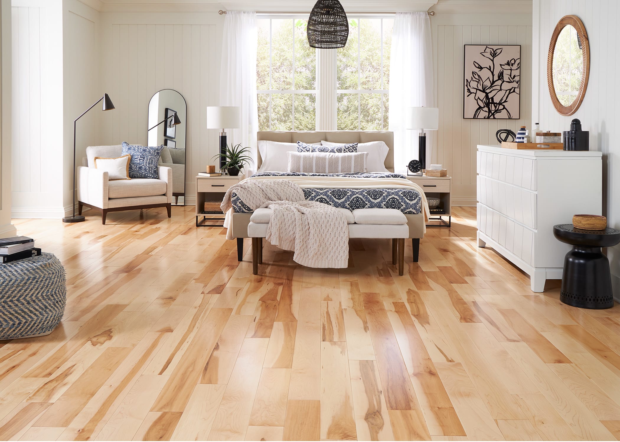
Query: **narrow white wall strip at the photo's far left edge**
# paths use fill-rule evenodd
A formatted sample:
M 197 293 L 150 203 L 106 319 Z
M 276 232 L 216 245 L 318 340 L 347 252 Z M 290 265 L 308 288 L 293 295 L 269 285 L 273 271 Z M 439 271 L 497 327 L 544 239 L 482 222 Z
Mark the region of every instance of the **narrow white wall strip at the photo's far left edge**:
M 11 223 L 11 0 L 0 0 L 0 238 Z

